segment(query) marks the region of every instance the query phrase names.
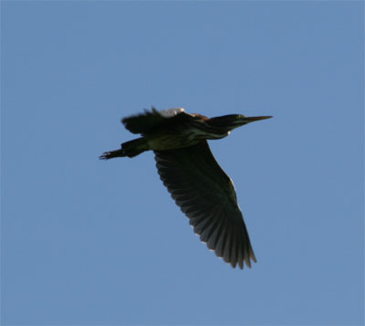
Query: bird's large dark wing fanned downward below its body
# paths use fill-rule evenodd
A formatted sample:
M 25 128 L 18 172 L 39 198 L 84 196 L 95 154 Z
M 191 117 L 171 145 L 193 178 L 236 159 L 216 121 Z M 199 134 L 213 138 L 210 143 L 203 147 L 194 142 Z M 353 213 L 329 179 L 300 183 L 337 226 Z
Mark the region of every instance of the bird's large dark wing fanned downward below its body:
M 206 141 L 178 150 L 155 151 L 162 182 L 218 257 L 251 267 L 255 254 L 237 204 L 235 186 L 215 161 Z

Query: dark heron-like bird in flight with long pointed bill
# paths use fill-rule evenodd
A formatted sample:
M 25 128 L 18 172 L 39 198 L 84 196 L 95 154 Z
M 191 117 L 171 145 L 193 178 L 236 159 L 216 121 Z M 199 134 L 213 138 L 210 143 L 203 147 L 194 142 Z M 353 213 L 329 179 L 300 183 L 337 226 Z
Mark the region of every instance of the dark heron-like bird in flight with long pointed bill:
M 235 128 L 269 118 L 229 114 L 209 119 L 183 108 L 152 107 L 121 120 L 128 131 L 141 134 L 141 138 L 123 142 L 120 149 L 104 152 L 99 158 L 132 158 L 153 151 L 162 183 L 189 218 L 195 234 L 233 268 L 251 268 L 256 258 L 235 185 L 215 160 L 207 140 L 222 139 Z

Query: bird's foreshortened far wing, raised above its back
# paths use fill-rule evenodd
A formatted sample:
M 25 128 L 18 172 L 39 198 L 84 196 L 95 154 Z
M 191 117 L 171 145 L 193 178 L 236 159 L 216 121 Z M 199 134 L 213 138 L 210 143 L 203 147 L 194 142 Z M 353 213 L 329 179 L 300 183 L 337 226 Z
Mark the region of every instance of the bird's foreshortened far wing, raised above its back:
M 130 132 L 145 135 L 169 123 L 169 120 L 177 115 L 190 116 L 183 108 L 158 111 L 152 107 L 151 111 L 145 110 L 144 113 L 124 118 L 121 122 Z

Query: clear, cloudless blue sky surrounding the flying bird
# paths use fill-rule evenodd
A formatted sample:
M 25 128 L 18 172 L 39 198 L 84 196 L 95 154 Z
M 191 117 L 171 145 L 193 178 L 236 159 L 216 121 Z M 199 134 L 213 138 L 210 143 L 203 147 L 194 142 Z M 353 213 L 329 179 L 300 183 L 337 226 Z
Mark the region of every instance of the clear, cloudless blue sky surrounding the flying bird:
M 364 322 L 364 3 L 1 3 L 1 318 L 14 325 Z M 154 105 L 273 115 L 210 142 L 257 263 L 193 234 Z

